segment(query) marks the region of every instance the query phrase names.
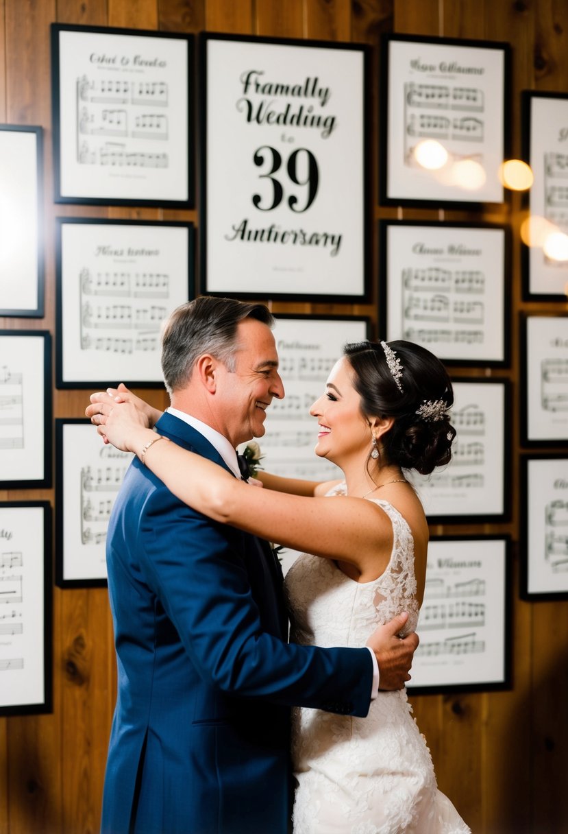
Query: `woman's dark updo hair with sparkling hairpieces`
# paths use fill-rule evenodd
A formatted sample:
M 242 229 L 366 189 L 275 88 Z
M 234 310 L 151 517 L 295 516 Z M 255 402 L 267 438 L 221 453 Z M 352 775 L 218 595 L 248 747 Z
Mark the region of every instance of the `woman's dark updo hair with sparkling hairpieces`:
M 416 411 L 421 404 L 441 399 L 450 408 L 454 403 L 451 379 L 440 359 L 406 341 L 388 343 L 400 360 L 402 375 L 396 380 L 378 342 L 346 344 L 343 349 L 354 371 L 353 385 L 361 397 L 361 411 L 367 417 L 394 417 L 389 431 L 381 437 L 381 455 L 386 464 L 414 469 L 430 475 L 436 466 L 451 460 L 451 444 L 456 430 L 447 415 L 441 420 L 424 420 Z

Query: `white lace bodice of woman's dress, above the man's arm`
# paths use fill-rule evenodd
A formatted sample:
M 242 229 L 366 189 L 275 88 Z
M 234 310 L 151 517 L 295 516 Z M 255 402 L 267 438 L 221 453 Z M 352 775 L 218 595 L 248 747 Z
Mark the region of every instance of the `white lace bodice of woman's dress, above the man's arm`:
M 327 495 L 346 495 L 341 483 Z M 335 563 L 303 554 L 286 575 L 286 593 L 291 610 L 291 640 L 303 645 L 365 646 L 380 623 L 408 611 L 405 633 L 416 630 L 418 603 L 414 573 L 414 540 L 400 512 L 388 501 L 374 499 L 391 519 L 392 550 L 386 570 L 371 582 L 356 582 Z M 325 594 L 318 590 L 325 587 Z M 347 602 L 346 595 L 351 598 Z M 334 599 L 341 596 L 341 610 L 351 608 L 349 621 L 337 616 Z

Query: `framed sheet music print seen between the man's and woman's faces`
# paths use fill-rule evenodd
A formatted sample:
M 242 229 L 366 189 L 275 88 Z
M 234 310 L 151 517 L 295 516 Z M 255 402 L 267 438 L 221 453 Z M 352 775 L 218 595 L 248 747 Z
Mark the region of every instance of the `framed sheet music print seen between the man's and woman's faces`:
M 343 345 L 369 338 L 370 320 L 283 314 L 275 318 L 274 338 L 286 397 L 272 400 L 267 410 L 266 434 L 258 441 L 262 469 L 288 478 L 340 478 L 336 465 L 316 457 L 317 420 L 309 411 L 325 391 Z M 280 550 L 282 570 L 288 570 L 297 555 L 296 550 Z

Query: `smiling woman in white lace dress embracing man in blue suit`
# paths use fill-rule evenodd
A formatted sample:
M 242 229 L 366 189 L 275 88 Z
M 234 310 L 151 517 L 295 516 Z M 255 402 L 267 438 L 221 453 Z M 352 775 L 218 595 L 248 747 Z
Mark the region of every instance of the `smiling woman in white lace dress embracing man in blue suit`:
M 145 404 L 123 396 L 131 404 L 108 398 L 93 419 L 106 421 L 102 435 L 139 455 L 147 447 L 146 465 L 205 515 L 305 551 L 286 575 L 292 641 L 364 646 L 402 610 L 407 630 L 416 628 L 428 527 L 403 470 L 428 474 L 446 464 L 456 434 L 451 381 L 430 351 L 405 341 L 346 346 L 310 411 L 316 455 L 344 475 L 326 484 L 262 473 L 267 489 L 252 490 L 172 443 L 150 448 L 152 410 L 145 416 L 132 403 Z M 92 399 L 102 404 L 104 395 Z M 380 691 L 366 718 L 297 709 L 293 725 L 294 834 L 470 831 L 437 790 L 406 691 Z

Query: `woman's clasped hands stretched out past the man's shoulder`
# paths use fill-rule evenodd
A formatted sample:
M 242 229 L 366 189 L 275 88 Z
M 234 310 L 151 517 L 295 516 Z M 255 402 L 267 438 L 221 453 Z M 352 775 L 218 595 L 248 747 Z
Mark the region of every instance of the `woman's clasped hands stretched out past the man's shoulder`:
M 105 443 L 112 443 L 123 452 L 139 452 L 149 439 L 152 440 L 152 435 L 156 436 L 148 426 L 147 414 L 134 403 L 117 402 L 117 396 L 101 391 L 91 394 L 91 402 L 85 414 L 92 425 L 97 426 Z

